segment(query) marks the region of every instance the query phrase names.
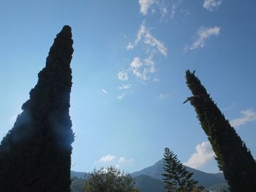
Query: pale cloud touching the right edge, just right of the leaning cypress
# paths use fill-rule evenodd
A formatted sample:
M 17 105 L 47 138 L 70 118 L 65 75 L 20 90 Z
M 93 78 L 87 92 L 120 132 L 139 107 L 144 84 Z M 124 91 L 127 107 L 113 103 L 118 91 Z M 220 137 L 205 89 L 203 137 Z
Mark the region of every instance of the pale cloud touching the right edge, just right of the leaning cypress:
M 234 128 L 238 128 L 248 122 L 256 120 L 256 112 L 252 109 L 241 111 L 242 117 L 230 120 L 230 125 Z

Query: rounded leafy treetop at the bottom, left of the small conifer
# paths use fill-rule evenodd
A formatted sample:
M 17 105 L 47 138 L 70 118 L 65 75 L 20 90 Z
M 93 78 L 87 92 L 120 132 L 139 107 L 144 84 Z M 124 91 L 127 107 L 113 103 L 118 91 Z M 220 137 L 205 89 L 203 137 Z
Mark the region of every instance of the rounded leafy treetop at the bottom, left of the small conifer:
M 129 174 L 120 172 L 113 166 L 94 169 L 86 176 L 83 190 L 86 192 L 139 192 Z

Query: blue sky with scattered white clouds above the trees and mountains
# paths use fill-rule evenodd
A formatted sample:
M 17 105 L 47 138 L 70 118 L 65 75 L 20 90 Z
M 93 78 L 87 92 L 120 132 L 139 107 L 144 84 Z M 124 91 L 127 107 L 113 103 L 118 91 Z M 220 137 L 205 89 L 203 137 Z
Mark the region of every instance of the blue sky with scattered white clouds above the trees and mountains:
M 190 96 L 187 69 L 256 157 L 253 0 L 13 1 L 0 6 L 0 137 L 12 128 L 62 26 L 75 52 L 72 170 L 150 166 L 170 147 L 218 172 Z

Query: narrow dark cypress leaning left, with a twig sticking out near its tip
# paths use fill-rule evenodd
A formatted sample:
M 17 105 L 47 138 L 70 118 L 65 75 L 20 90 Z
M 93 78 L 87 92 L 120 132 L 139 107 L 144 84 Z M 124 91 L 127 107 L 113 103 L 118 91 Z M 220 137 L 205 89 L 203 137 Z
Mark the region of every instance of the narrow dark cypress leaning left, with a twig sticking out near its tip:
M 230 191 L 256 191 L 256 164 L 250 151 L 195 77 L 195 72 L 187 70 L 186 79 L 193 95 L 187 101 L 195 107 L 197 118 L 211 142 Z

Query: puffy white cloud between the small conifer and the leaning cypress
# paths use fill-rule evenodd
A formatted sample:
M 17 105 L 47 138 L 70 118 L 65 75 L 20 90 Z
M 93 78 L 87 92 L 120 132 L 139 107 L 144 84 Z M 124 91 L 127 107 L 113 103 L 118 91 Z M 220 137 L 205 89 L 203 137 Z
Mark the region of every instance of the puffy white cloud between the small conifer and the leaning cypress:
M 195 147 L 196 153 L 193 153 L 184 165 L 199 168 L 214 159 L 214 151 L 211 149 L 210 142 L 202 142 Z

